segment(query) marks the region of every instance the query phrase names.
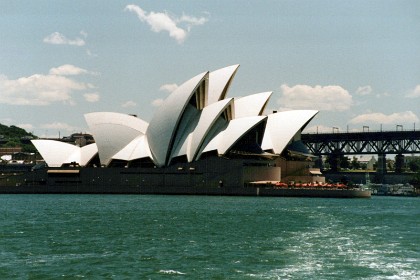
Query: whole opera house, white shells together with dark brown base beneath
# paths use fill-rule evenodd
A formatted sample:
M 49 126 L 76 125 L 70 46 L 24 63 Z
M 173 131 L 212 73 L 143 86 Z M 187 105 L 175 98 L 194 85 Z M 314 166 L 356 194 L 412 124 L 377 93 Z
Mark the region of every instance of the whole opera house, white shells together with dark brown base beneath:
M 204 72 L 184 82 L 149 123 L 128 114 L 86 114 L 93 144 L 32 142 L 48 168 L 59 172 L 77 164 L 85 173 L 83 180 L 102 185 L 111 181 L 114 186 L 200 188 L 280 181 L 276 158 L 300 139 L 317 111 L 264 115 L 271 92 L 228 97 L 238 67 Z

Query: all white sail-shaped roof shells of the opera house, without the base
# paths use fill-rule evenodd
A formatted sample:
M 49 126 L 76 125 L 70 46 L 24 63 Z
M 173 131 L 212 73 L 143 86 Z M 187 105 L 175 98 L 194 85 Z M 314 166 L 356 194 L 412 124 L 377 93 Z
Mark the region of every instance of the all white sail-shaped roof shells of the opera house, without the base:
M 280 154 L 317 111 L 263 116 L 271 92 L 226 99 L 238 67 L 203 72 L 186 81 L 157 109 L 150 124 L 127 114 L 89 113 L 85 119 L 95 144 L 79 148 L 52 140 L 33 143 L 51 167 L 87 165 L 96 153 L 105 166 L 112 160 L 141 165 L 143 159 L 150 165 L 150 158 L 157 167 L 196 161 L 206 152 L 234 157 L 262 155 L 263 150 Z

